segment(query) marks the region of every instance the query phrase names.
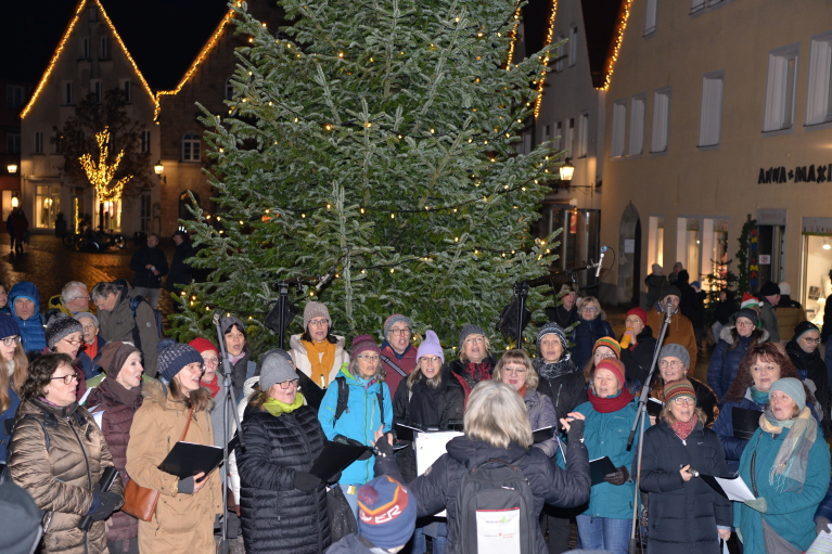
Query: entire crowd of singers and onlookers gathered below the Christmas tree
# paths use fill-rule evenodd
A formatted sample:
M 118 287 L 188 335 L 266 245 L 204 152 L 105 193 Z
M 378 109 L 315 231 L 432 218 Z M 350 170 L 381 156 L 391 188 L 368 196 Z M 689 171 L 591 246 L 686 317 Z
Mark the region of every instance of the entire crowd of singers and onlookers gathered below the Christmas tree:
M 496 479 L 501 466 L 523 476 L 523 534 L 537 554 L 567 551 L 573 525 L 580 547 L 625 554 L 633 517 L 651 554 L 716 554 L 722 541 L 805 551 L 832 525 L 827 330 L 801 315 L 786 283 L 739 306 L 721 291 L 706 321 L 681 263 L 668 278 L 653 266 L 648 304 L 617 337 L 598 298 L 566 284 L 532 356 L 498 352 L 487 322 L 439 337 L 400 313 L 346 337 L 310 299 L 289 349 L 257 356 L 232 314 L 221 344 L 163 337 L 162 278 L 171 292 L 190 278 L 185 258 L 168 266 L 157 245 L 151 236 L 133 256 L 133 286 L 69 282 L 44 313 L 35 283 L 0 285 L 0 511 L 24 499 L 20 514 L 31 502 L 42 516 L 16 526 L 20 552 L 214 552 L 220 523 L 249 554 L 462 552 L 476 541 L 471 476 Z M 642 391 L 655 410 L 628 443 Z M 233 412 L 245 445 L 232 443 L 228 464 L 184 478 L 159 469 L 178 441 L 230 441 Z M 413 428 L 459 436 L 425 469 Z M 311 468 L 330 442 L 366 452 L 323 478 Z M 596 478 L 599 459 L 610 465 Z M 753 499 L 729 502 L 701 478 L 738 475 Z M 128 484 L 157 495 L 149 520 L 120 510 Z

